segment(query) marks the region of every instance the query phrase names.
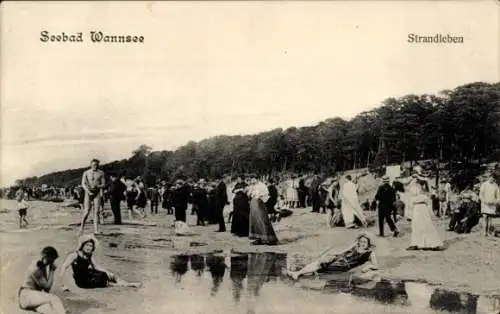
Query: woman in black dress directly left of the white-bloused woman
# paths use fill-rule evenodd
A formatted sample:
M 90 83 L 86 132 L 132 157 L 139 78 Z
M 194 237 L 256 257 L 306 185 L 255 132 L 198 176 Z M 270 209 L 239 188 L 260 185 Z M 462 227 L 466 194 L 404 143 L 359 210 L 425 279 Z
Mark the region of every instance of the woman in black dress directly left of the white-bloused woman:
M 248 237 L 250 202 L 246 194 L 247 184 L 242 178 L 233 188 L 233 220 L 231 222 L 231 233 L 239 237 Z

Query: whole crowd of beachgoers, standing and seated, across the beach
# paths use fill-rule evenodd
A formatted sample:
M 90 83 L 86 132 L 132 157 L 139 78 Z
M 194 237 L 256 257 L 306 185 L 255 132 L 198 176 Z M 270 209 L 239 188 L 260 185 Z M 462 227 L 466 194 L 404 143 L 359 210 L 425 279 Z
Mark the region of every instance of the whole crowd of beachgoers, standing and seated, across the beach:
M 444 249 L 433 215 L 449 218 L 448 230 L 457 233 L 470 233 L 484 217 L 485 236 L 494 232 L 491 219 L 499 214 L 500 189 L 492 177 L 483 182 L 477 191 L 458 193 L 446 179 L 433 186 L 430 178 L 417 168 L 415 174 L 406 178 L 383 176 L 373 197 L 365 203 L 360 201 L 356 181 L 357 178 L 351 175 L 329 181 L 315 175 L 307 185 L 304 178 L 298 177 L 290 178 L 287 185 L 279 185 L 273 178 L 262 180 L 254 176 L 240 176 L 228 188 L 220 176 L 212 182 L 204 179 L 194 182 L 177 177 L 172 183 L 162 181 L 146 188 L 141 178 L 130 180 L 112 173 L 108 180 L 107 175 L 99 169 L 99 161 L 94 159 L 90 169 L 83 173 L 81 187 L 74 190 L 73 197 L 82 209 L 80 242 L 77 250 L 64 263 L 62 276 L 72 267 L 75 284 L 84 289 L 139 285 L 117 278 L 113 273 L 96 266 L 92 260 L 97 239 L 84 235 L 85 224 L 92 213 L 93 232 L 98 234 L 98 226 L 104 219 L 104 204 L 108 201 L 114 224 L 123 223 L 122 202 L 126 203 L 130 220 L 134 216 L 144 218 L 148 204 L 152 215 L 157 215 L 161 207 L 167 215 L 174 215 L 177 235 L 190 232 L 187 224 L 189 205 L 191 214 L 196 215 L 198 226 L 217 225 L 217 232 L 226 232 L 224 208 L 232 203 L 232 212 L 228 217 L 230 232 L 234 236 L 248 238 L 253 245 L 279 244 L 273 223 L 291 209 L 306 206 L 312 207 L 312 213 L 326 213 L 328 227 L 343 226 L 348 229 L 367 228 L 370 225 L 367 211 L 376 209 L 379 237 L 385 236 L 385 224 L 392 236 L 398 237 L 399 221 L 405 218 L 411 222 L 408 250 Z M 26 212 L 29 194 L 21 189 L 16 198 L 19 223 L 25 227 L 28 223 Z M 302 269 L 290 271 L 289 275 L 298 279 L 318 271 L 348 271 L 357 267 L 362 267 L 363 273 L 377 272 L 374 247 L 373 239 L 362 233 L 348 249 L 338 251 L 329 248 L 316 261 Z M 22 308 L 43 310 L 44 313 L 64 313 L 60 300 L 49 293 L 57 257 L 58 253 L 53 247 L 42 250 L 41 258 L 30 268 L 19 291 Z

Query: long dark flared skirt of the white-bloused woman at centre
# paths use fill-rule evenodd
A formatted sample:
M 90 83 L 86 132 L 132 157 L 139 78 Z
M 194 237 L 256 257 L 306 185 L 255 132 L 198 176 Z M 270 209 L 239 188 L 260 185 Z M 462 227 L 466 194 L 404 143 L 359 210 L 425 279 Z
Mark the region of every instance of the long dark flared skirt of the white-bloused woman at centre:
M 250 201 L 250 236 L 251 240 L 260 240 L 263 243 L 277 243 L 278 238 L 273 225 L 267 215 L 266 206 L 260 198 Z

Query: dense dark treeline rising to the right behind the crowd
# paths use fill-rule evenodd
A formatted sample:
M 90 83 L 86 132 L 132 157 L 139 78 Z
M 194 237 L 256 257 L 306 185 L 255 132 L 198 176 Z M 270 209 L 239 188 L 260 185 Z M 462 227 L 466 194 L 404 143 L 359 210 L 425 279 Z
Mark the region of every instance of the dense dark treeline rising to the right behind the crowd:
M 477 82 L 438 95 L 388 98 L 350 121 L 332 118 L 316 126 L 221 135 L 191 141 L 175 151 L 151 152 L 141 145 L 129 159 L 104 169 L 143 176 L 149 183 L 179 172 L 193 178 L 249 172 L 333 173 L 422 159 L 465 169 L 499 160 L 499 148 L 500 83 Z M 23 183 L 78 184 L 83 170 L 60 171 Z

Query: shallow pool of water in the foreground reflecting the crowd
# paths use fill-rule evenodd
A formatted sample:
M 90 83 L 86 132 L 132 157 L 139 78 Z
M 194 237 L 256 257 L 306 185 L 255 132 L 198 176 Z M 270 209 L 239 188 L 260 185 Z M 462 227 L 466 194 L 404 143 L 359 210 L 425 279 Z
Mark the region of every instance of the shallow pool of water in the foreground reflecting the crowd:
M 297 282 L 286 254 L 175 255 L 169 299 L 179 313 L 499 313 L 500 297 L 448 291 L 423 283 L 321 275 Z M 352 280 L 350 280 L 352 279 Z M 172 299 L 171 299 L 172 300 Z M 186 302 L 189 300 L 189 302 Z M 183 302 L 184 301 L 184 302 Z M 175 304 L 175 305 L 174 305 Z

